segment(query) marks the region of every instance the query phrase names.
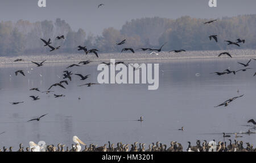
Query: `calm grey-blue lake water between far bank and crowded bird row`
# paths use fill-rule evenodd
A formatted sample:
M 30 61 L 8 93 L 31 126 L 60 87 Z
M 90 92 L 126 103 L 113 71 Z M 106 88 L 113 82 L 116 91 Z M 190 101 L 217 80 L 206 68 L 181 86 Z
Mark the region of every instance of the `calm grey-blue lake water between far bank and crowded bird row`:
M 16 150 L 19 143 L 28 147 L 29 141 L 38 143 L 40 140 L 47 144 L 70 146 L 72 137 L 76 135 L 86 144 L 139 141 L 148 146 L 156 141 L 168 145 L 170 141 L 178 141 L 187 149 L 187 141 L 192 145 L 197 139 L 224 141 L 222 132 L 246 132 L 250 128 L 254 131 L 252 127 L 243 125 L 251 118 L 256 119 L 256 77 L 253 77 L 256 62 L 251 61 L 250 68 L 253 69 L 236 75 L 210 74 L 227 68 L 240 69 L 242 66 L 237 61 L 247 60 L 144 61 L 159 63 L 158 90 L 147 90 L 147 84 L 78 87 L 82 83 L 97 82 L 99 72 L 97 64 L 92 62 L 70 69 L 73 73 L 91 74 L 87 80 L 80 81 L 80 77 L 73 75 L 66 90 L 53 87 L 55 94 L 65 95 L 60 98 L 29 89 L 39 87 L 41 91 L 47 90 L 62 80 L 62 72 L 70 63 L 46 63 L 40 68 L 34 64 L 1 65 L 0 133 L 5 133 L 0 135 L 0 147 L 13 146 Z M 26 77 L 15 76 L 14 72 L 19 69 L 24 70 Z M 197 77 L 196 73 L 200 76 Z M 245 96 L 228 107 L 214 107 L 242 94 Z M 30 95 L 39 95 L 40 100 L 32 101 Z M 9 103 L 18 101 L 24 103 Z M 48 115 L 40 122 L 27 122 L 43 114 Z M 135 121 L 140 116 L 144 118 L 142 123 Z M 178 131 L 181 127 L 185 130 Z M 256 134 L 242 136 L 239 140 L 256 145 Z

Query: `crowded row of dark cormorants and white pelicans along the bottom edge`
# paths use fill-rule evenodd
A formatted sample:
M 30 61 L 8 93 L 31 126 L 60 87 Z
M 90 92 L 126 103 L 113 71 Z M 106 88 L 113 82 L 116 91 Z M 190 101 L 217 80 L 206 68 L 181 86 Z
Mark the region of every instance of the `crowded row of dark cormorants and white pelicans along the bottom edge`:
M 215 140 L 209 142 L 204 140 L 201 144 L 201 141 L 197 140 L 195 146 L 191 145 L 191 142 L 188 141 L 188 147 L 185 149 L 176 141 L 171 141 L 170 147 L 168 148 L 166 144 L 162 144 L 160 141 L 149 144 L 148 148 L 145 147 L 145 143 L 138 144 L 138 141 L 133 144 L 123 144 L 122 142 L 118 142 L 115 147 L 113 143 L 108 141 L 108 144 L 98 147 L 97 144 L 93 143 L 87 146 L 79 139 L 79 137 L 73 136 L 73 142 L 75 144 L 72 144 L 70 148 L 65 147 L 66 145 L 62 143 L 57 144 L 57 146 L 46 144 L 40 146 L 34 143 L 34 141 L 30 141 L 30 147 L 24 149 L 23 144 L 21 143 L 16 152 L 256 152 L 256 148 L 253 148 L 253 145 L 250 143 L 245 143 L 246 147 L 243 147 L 243 141 L 234 139 L 234 143 L 232 143 L 231 139 L 228 140 L 228 144 L 226 141 L 218 141 L 218 143 L 216 143 Z M 84 145 L 84 148 L 82 148 L 80 144 Z M 0 152 L 13 152 L 13 147 L 3 147 L 3 150 L 0 149 Z

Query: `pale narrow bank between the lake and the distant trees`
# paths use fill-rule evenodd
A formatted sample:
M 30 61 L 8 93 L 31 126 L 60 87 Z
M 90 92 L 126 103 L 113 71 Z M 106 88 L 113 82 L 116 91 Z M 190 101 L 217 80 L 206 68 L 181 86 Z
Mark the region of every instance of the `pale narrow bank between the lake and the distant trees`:
M 138 61 L 138 60 L 183 60 L 183 59 L 216 59 L 228 58 L 226 56 L 218 57 L 218 54 L 224 51 L 187 51 L 182 53 L 159 52 L 159 55 L 150 55 L 150 52 L 136 53 L 99 53 L 99 58 L 95 55 L 84 55 L 83 53 L 74 54 L 57 54 L 57 55 L 23 55 L 0 57 L 0 65 L 2 64 L 28 64 L 31 61 L 47 60 L 48 63 L 64 63 L 64 62 L 79 62 L 81 60 L 92 61 L 109 61 L 115 59 L 117 61 Z M 249 58 L 256 57 L 256 50 L 241 49 L 228 50 L 233 58 Z M 17 58 L 22 58 L 24 61 L 14 62 Z

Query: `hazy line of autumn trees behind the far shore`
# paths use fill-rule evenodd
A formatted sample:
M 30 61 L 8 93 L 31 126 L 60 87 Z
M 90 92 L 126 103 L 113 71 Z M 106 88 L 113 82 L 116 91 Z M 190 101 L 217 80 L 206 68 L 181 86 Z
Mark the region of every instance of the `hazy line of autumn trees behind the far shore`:
M 76 53 L 77 46 L 97 48 L 101 52 L 120 52 L 122 48 L 158 48 L 166 43 L 163 51 L 172 49 L 185 50 L 220 50 L 234 48 L 256 48 L 256 15 L 239 15 L 232 18 L 224 17 L 217 22 L 204 24 L 209 19 L 196 19 L 183 16 L 179 19 L 142 18 L 126 22 L 121 30 L 113 27 L 105 28 L 101 36 L 86 35 L 81 28 L 73 31 L 65 20 L 55 22 L 44 20 L 31 23 L 27 20 L 0 23 L 0 56 L 36 55 L 47 53 Z M 64 35 L 65 40 L 55 40 L 56 36 Z M 210 41 L 210 35 L 218 35 L 218 43 Z M 51 38 L 53 47 L 61 46 L 49 53 L 43 47 L 40 38 Z M 224 40 L 236 41 L 245 39 L 241 47 L 227 45 Z M 123 45 L 117 42 L 126 39 Z

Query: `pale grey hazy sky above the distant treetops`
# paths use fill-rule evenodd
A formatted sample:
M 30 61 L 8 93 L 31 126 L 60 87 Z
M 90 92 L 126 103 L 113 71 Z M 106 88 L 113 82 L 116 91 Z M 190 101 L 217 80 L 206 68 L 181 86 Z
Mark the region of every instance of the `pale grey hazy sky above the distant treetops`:
M 107 27 L 121 29 L 131 19 L 144 17 L 221 18 L 256 14 L 255 0 L 217 0 L 217 7 L 209 7 L 209 0 L 46 0 L 47 7 L 38 7 L 38 0 L 0 0 L 0 20 L 55 20 L 61 18 L 77 30 L 100 35 Z M 101 6 L 97 9 L 100 3 Z

